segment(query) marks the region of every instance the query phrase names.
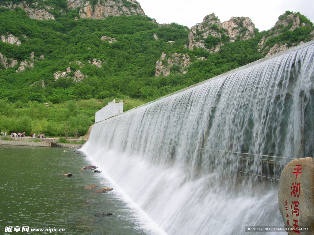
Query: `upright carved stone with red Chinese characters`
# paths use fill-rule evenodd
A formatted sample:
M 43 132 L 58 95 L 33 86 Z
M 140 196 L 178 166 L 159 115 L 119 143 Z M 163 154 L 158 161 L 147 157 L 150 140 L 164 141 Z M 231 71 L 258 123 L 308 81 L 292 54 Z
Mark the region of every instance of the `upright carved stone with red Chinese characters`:
M 285 226 L 311 226 L 314 234 L 314 159 L 291 161 L 281 173 L 279 210 Z M 289 232 L 289 235 L 296 234 Z M 299 233 L 298 233 L 299 234 Z

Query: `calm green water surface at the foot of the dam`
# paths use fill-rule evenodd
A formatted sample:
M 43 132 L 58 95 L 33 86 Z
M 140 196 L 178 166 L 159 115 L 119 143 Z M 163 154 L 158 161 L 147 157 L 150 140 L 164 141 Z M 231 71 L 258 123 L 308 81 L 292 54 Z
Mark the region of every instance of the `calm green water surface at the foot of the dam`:
M 112 185 L 93 170 L 79 170 L 90 162 L 84 154 L 74 153 L 65 148 L 0 145 L 0 233 L 149 234 L 115 191 L 93 194 L 84 189 L 89 184 Z M 63 176 L 67 173 L 73 176 Z M 106 212 L 113 215 L 95 217 Z M 8 226 L 30 229 L 5 232 Z M 64 232 L 31 232 L 31 228 L 64 228 Z

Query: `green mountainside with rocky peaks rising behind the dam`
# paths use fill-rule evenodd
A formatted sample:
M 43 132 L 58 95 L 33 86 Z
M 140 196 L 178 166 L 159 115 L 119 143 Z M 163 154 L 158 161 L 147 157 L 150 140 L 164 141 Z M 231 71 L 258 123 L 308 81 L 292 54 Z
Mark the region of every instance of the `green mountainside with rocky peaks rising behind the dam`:
M 127 0 L 0 5 L 0 129 L 10 133 L 62 135 L 70 121 L 84 133 L 114 98 L 128 110 L 314 37 L 288 11 L 258 32 L 247 17 L 221 23 L 214 13 L 191 29 L 158 24 Z

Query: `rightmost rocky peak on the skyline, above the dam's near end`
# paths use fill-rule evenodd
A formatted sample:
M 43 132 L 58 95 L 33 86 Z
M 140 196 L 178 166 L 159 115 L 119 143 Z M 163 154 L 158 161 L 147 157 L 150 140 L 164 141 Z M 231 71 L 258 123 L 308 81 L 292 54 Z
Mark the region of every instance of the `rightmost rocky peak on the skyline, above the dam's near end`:
M 287 43 L 284 43 L 284 44 L 276 43 L 271 48 L 269 48 L 268 46 L 265 46 L 265 42 L 267 42 L 270 38 L 273 38 L 282 34 L 283 33 L 282 29 L 287 26 L 289 26 L 288 30 L 294 31 L 295 29 L 301 26 L 307 26 L 307 24 L 300 22 L 300 16 L 298 13 L 291 13 L 291 14 L 285 13 L 279 16 L 278 21 L 276 22 L 274 27 L 269 31 L 269 33 L 266 36 L 263 36 L 260 42 L 258 43 L 261 53 L 264 55 L 266 54 L 265 57 L 287 50 L 297 45 L 293 43 L 289 47 Z M 311 32 L 310 34 L 314 34 L 314 31 Z M 314 39 L 314 37 L 312 38 Z M 304 42 L 301 41 L 299 44 L 303 44 L 303 43 Z

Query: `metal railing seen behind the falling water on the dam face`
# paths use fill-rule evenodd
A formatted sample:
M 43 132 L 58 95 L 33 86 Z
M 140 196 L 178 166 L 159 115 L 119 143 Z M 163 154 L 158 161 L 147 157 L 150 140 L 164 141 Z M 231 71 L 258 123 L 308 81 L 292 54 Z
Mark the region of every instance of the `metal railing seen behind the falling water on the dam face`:
M 265 177 L 272 180 L 280 180 L 280 175 L 284 167 L 290 161 L 296 159 L 270 155 L 221 151 L 216 149 L 196 149 L 193 147 L 182 147 L 165 144 L 162 144 L 161 147 L 165 147 L 169 151 L 168 153 L 171 158 L 176 158 L 176 151 L 180 148 L 184 149 L 184 151 L 187 153 L 187 161 L 193 161 L 203 165 L 237 171 L 239 173 Z M 194 158 L 190 158 L 191 156 L 194 156 Z M 224 164 L 218 164 L 219 160 L 221 160 L 221 162 Z M 259 169 L 257 172 L 254 166 L 258 166 Z

